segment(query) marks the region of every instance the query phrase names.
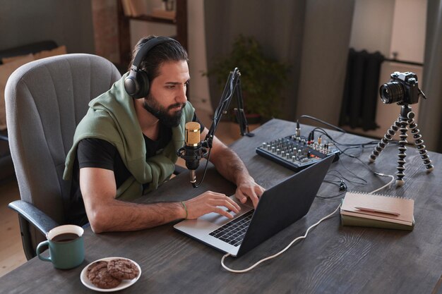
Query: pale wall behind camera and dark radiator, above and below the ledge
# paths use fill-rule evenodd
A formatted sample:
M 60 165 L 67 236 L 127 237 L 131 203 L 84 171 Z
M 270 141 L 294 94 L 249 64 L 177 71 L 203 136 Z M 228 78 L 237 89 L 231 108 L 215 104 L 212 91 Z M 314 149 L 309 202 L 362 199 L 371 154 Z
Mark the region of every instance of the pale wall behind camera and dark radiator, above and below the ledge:
M 398 52 L 397 59 L 402 61 L 424 62 L 425 27 L 427 0 L 357 0 L 354 8 L 352 37 L 350 47 L 366 49 L 373 53 L 380 51 L 387 59 L 393 59 L 393 52 Z M 412 71 L 417 74 L 419 86 L 422 86 L 422 66 L 407 65 L 384 61 L 379 76 L 379 86 L 390 80 L 390 73 Z M 412 104 L 415 120 L 419 123 L 419 103 Z M 383 104 L 378 97 L 376 123 L 381 128 L 364 131 L 345 127 L 354 133 L 383 137 L 386 130 L 400 114 L 397 104 Z M 396 136 L 396 138 L 398 135 Z

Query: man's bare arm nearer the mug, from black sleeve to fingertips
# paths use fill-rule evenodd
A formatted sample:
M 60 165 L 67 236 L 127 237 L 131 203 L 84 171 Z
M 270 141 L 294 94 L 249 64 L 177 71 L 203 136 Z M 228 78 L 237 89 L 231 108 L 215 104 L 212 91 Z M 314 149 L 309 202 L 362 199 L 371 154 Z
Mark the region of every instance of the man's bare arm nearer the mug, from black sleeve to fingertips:
M 117 185 L 114 171 L 99 168 L 80 169 L 80 190 L 92 231 L 136 231 L 186 218 L 181 202 L 135 204 L 115 199 Z M 207 191 L 184 202 L 187 218 L 196 219 L 216 212 L 232 215 L 220 207 L 239 212 L 239 206 L 223 194 Z

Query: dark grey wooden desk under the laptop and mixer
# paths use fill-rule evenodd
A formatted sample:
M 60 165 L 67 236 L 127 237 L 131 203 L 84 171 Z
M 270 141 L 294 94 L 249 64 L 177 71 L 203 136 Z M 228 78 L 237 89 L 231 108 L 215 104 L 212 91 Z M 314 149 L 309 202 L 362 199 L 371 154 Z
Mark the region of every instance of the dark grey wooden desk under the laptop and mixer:
M 268 188 L 293 172 L 260 157 L 261 142 L 294 133 L 295 124 L 272 120 L 232 145 L 258 183 Z M 303 127 L 306 135 L 310 127 Z M 368 142 L 363 137 L 330 131 L 338 142 Z M 355 152 L 353 152 L 355 153 Z M 360 159 L 368 162 L 371 148 Z M 371 168 L 395 174 L 398 149 L 387 147 Z M 414 231 L 343 227 L 340 217 L 314 228 L 305 240 L 277 259 L 246 274 L 231 274 L 220 265 L 222 253 L 177 233 L 172 223 L 126 233 L 95 235 L 85 230 L 85 262 L 76 269 L 58 270 L 49 262 L 32 259 L 0 278 L 1 293 L 90 293 L 80 282 L 85 265 L 102 257 L 128 257 L 140 264 L 143 274 L 122 293 L 431 293 L 442 274 L 442 154 L 430 153 L 435 171 L 426 174 L 417 151 L 407 150 L 405 186 L 383 193 L 415 200 Z M 373 176 L 359 161 L 341 156 L 330 169 L 355 182 L 346 169 L 366 179 L 366 185 L 347 181 L 350 190 L 370 192 L 388 178 Z M 201 172 L 198 173 L 201 175 Z M 330 179 L 333 179 L 330 177 Z M 234 186 L 210 169 L 201 188 L 194 189 L 188 174 L 181 174 L 138 202 L 186 200 L 204 190 L 232 194 Z M 319 195 L 336 195 L 335 185 L 323 184 Z M 338 207 L 339 200 L 316 198 L 309 214 L 238 259 L 226 264 L 244 269 L 278 252 L 306 228 Z

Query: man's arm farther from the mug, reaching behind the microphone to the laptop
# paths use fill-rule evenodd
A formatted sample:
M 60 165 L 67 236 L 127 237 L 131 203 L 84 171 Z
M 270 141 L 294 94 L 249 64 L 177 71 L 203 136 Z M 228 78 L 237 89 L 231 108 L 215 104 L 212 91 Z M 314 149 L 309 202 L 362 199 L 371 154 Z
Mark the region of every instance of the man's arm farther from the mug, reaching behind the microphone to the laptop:
M 208 129 L 205 128 L 201 133 L 201 140 L 205 138 L 207 133 Z M 227 180 L 237 185 L 235 196 L 239 201 L 245 203 L 247 197 L 249 197 L 253 207 L 256 207 L 258 198 L 263 194 L 264 188 L 255 183 L 238 155 L 217 137 L 213 137 L 213 147 L 210 152 L 210 161 L 217 171 Z

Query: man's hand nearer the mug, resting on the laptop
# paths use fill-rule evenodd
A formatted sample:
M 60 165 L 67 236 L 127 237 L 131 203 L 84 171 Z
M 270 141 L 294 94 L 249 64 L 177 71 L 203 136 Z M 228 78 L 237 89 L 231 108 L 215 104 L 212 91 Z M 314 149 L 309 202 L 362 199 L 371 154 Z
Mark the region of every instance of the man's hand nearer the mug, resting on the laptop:
M 229 212 L 221 207 L 226 207 L 227 210 L 230 210 L 235 214 L 240 210 L 239 205 L 232 199 L 224 194 L 212 191 L 203 192 L 203 194 L 185 201 L 184 204 L 186 204 L 188 212 L 187 219 L 198 219 L 198 217 L 210 212 L 216 212 L 217 214 L 232 219 L 232 214 L 229 214 Z

